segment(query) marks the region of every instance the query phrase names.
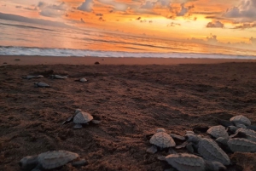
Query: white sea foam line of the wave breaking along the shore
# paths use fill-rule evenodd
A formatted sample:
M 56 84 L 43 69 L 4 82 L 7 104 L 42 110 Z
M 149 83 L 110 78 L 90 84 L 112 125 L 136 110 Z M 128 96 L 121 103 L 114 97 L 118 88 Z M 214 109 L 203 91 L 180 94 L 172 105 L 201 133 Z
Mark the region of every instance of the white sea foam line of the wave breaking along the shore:
M 256 60 L 252 55 L 230 54 L 196 54 L 196 53 L 133 53 L 117 51 L 93 51 L 64 48 L 25 48 L 1 47 L 1 55 L 31 55 L 31 56 L 76 56 L 76 57 L 134 57 L 134 58 L 204 58 L 204 59 L 242 59 Z

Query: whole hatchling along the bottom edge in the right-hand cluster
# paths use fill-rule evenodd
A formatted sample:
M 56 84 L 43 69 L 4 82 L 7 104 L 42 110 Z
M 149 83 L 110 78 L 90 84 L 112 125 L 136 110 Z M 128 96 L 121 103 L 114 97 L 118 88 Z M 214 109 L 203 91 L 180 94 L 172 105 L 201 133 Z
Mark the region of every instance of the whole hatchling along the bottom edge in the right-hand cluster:
M 166 157 L 159 157 L 159 159 L 165 160 L 178 171 L 219 171 L 226 169 L 220 162 L 210 162 L 188 153 L 170 154 Z

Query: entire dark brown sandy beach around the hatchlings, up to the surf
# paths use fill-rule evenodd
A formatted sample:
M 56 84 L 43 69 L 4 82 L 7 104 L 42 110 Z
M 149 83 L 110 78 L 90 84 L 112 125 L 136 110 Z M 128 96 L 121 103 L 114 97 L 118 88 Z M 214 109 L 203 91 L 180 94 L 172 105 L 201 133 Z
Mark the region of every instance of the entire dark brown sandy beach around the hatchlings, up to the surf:
M 20 170 L 22 157 L 66 150 L 89 164 L 69 163 L 64 171 L 162 171 L 168 165 L 157 157 L 167 152 L 146 152 L 146 135 L 157 128 L 184 135 L 241 114 L 256 125 L 255 60 L 0 56 L 0 62 L 0 170 Z M 38 74 L 44 78 L 22 79 Z M 74 81 L 81 77 L 89 81 Z M 50 88 L 34 88 L 35 82 Z M 62 125 L 77 108 L 102 123 Z M 229 171 L 256 170 L 255 153 L 229 157 L 236 163 Z

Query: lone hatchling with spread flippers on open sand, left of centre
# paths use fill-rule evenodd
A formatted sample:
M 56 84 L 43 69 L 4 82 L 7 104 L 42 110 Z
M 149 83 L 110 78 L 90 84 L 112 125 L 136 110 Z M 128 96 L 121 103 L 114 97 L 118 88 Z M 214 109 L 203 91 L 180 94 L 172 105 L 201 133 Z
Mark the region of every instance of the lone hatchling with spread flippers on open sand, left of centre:
M 65 121 L 63 124 L 69 123 L 72 120 L 73 120 L 73 123 L 75 123 L 73 128 L 83 128 L 82 124 L 88 124 L 89 122 L 96 123 L 96 124 L 101 123 L 101 121 L 93 119 L 93 117 L 90 115 L 90 113 L 84 112 L 81 109 L 76 109 L 75 116 L 68 117 L 67 121 Z

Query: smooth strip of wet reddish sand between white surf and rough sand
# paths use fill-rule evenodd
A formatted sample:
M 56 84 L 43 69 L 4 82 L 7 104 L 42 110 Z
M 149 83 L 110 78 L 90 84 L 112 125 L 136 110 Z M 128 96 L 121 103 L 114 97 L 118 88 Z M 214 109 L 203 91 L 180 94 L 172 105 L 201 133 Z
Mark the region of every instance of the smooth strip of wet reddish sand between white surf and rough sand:
M 19 59 L 19 60 L 15 60 Z M 179 64 L 219 64 L 230 62 L 256 62 L 256 60 L 241 59 L 192 59 L 192 58 L 135 58 L 135 57 L 56 57 L 56 56 L 26 56 L 26 55 L 0 55 L 0 65 L 179 65 Z M 3 64 L 6 62 L 7 64 Z

